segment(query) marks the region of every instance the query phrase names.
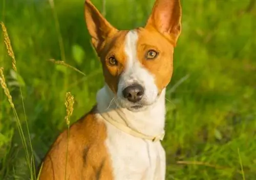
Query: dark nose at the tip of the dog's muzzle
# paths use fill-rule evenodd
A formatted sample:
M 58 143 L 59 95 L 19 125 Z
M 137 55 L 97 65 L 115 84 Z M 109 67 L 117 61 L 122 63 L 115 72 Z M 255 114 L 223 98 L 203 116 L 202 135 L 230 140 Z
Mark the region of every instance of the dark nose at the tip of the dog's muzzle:
M 123 90 L 123 97 L 131 102 L 138 102 L 144 95 L 144 89 L 139 84 L 126 87 Z

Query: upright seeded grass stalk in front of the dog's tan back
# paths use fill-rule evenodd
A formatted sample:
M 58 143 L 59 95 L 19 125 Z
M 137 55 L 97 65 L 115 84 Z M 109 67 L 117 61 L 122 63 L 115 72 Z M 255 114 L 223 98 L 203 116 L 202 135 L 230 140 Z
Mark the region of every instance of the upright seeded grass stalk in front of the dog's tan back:
M 65 102 L 65 106 L 66 106 L 66 111 L 67 111 L 67 115 L 65 117 L 66 123 L 68 125 L 68 143 L 67 143 L 67 153 L 66 153 L 66 167 L 65 167 L 65 180 L 67 179 L 67 164 L 68 164 L 68 149 L 69 149 L 69 127 L 70 127 L 70 117 L 73 114 L 73 106 L 74 106 L 74 96 L 70 93 L 67 92 L 66 93 L 66 102 Z

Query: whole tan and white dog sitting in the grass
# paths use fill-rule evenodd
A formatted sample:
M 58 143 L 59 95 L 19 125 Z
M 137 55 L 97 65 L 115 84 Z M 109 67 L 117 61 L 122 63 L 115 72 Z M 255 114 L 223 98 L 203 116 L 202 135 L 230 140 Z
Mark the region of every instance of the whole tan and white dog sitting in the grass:
M 145 27 L 133 30 L 114 28 L 89 0 L 84 16 L 105 84 L 92 110 L 53 143 L 39 179 L 163 180 L 165 89 L 181 32 L 180 1 L 156 0 Z

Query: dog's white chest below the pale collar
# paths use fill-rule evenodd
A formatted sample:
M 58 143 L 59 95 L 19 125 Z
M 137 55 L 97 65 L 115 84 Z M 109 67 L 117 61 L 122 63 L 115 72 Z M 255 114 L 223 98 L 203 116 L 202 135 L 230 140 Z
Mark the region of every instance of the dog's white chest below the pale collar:
M 112 160 L 114 180 L 154 180 L 159 176 L 160 142 L 135 138 L 106 124 L 108 138 L 105 145 Z

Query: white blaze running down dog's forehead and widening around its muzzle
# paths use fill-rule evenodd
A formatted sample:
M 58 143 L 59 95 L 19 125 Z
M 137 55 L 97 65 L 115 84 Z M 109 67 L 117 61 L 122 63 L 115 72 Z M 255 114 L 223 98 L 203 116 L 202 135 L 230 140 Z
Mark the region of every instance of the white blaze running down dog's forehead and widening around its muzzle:
M 129 31 L 125 38 L 124 52 L 126 54 L 126 65 L 120 75 L 117 96 L 121 106 L 124 108 L 134 105 L 122 95 L 123 89 L 133 84 L 139 84 L 144 88 L 144 95 L 137 103 L 139 105 L 152 105 L 157 100 L 158 88 L 155 78 L 146 68 L 142 66 L 137 58 L 138 33 Z

